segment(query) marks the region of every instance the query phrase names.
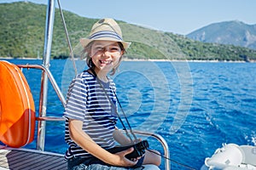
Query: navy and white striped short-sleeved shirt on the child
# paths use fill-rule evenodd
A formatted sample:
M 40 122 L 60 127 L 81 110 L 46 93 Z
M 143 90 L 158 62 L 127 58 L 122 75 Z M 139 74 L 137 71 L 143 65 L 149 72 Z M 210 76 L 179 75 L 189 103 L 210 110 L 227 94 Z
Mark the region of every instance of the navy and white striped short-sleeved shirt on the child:
M 109 99 L 116 105 L 114 95 L 115 84 L 111 79 L 102 82 Z M 115 146 L 113 130 L 117 122 L 117 116 L 96 77 L 88 71 L 84 71 L 73 79 L 67 92 L 67 104 L 64 111 L 65 141 L 69 145 L 65 157 L 91 156 L 70 138 L 68 119 L 76 119 L 83 122 L 83 131 L 87 133 L 96 144 L 104 149 Z M 85 141 L 86 142 L 86 141 Z

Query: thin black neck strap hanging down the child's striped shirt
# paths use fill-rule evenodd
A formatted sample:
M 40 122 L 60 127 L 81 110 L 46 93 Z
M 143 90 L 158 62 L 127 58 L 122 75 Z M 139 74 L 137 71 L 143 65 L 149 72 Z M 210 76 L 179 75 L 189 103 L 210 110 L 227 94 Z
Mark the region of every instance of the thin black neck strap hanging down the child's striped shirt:
M 136 141 L 137 141 L 137 137 L 136 137 L 135 133 L 133 133 L 133 131 L 132 131 L 132 129 L 131 129 L 130 122 L 128 121 L 127 116 L 126 116 L 126 114 L 125 114 L 125 111 L 123 110 L 123 107 L 122 107 L 122 105 L 121 105 L 120 102 L 119 102 L 119 98 L 118 98 L 117 94 L 116 94 L 115 91 L 112 89 L 113 94 L 114 94 L 114 96 L 115 96 L 115 98 L 116 98 L 116 100 L 117 100 L 117 102 L 118 102 L 119 108 L 120 108 L 120 110 L 121 110 L 123 116 L 125 117 L 125 122 L 127 122 L 127 125 L 128 125 L 128 127 L 129 127 L 129 131 L 130 131 L 130 133 L 132 134 L 134 140 L 131 138 L 131 135 L 129 134 L 128 129 L 125 127 L 125 123 L 123 122 L 121 116 L 119 116 L 119 112 L 117 111 L 117 106 L 116 106 L 115 104 L 113 104 L 112 99 L 109 98 L 109 96 L 108 96 L 108 94 L 107 94 L 107 91 L 106 91 L 106 89 L 104 88 L 104 86 L 102 85 L 102 82 L 101 82 L 101 81 L 99 80 L 99 78 L 97 77 L 96 72 L 95 72 L 92 68 L 90 68 L 90 71 L 91 71 L 92 74 L 96 77 L 96 82 L 98 82 L 98 83 L 100 84 L 100 86 L 101 86 L 101 88 L 102 88 L 104 94 L 107 96 L 108 101 L 110 102 L 111 107 L 114 108 L 115 114 L 118 116 L 119 121 L 121 122 L 122 126 L 124 127 L 125 134 L 126 134 L 127 137 L 131 140 L 131 142 L 132 142 L 133 144 L 135 144 Z M 107 78 L 108 78 L 108 77 L 107 77 Z

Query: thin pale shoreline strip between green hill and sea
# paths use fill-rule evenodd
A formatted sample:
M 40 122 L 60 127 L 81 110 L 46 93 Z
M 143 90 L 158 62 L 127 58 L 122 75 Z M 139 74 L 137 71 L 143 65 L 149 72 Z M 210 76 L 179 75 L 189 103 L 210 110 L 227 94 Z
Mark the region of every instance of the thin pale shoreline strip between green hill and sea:
M 12 58 L 12 57 L 0 57 L 3 59 L 37 59 L 37 58 Z M 42 58 L 40 58 L 42 59 Z M 206 60 L 206 59 L 122 59 L 123 61 L 153 61 L 153 62 L 195 62 L 195 63 L 256 63 L 256 59 L 249 61 L 245 60 Z

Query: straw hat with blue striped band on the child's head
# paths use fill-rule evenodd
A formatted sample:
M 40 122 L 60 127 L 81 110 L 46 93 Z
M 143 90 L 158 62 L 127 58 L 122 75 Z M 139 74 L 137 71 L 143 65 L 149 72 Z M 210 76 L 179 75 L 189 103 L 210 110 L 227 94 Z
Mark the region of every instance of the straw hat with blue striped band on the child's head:
M 97 21 L 90 30 L 88 38 L 81 38 L 80 42 L 83 47 L 86 47 L 94 40 L 107 40 L 113 42 L 121 42 L 125 49 L 129 48 L 131 42 L 124 42 L 122 31 L 119 25 L 113 19 L 102 19 Z

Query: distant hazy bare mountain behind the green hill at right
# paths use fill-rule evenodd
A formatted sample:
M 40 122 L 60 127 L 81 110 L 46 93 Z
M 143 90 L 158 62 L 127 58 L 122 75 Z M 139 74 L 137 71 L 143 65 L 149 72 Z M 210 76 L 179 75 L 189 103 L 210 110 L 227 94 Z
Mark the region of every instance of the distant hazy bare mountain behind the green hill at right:
M 201 42 L 233 44 L 256 49 L 256 25 L 247 25 L 237 20 L 202 27 L 189 33 L 187 37 Z

